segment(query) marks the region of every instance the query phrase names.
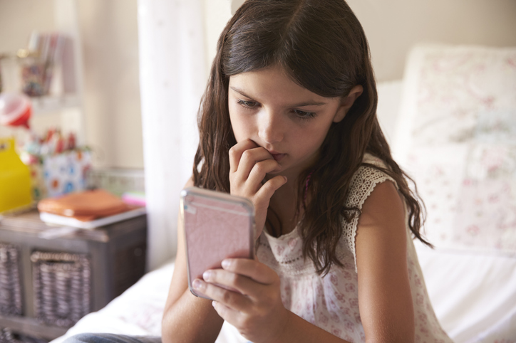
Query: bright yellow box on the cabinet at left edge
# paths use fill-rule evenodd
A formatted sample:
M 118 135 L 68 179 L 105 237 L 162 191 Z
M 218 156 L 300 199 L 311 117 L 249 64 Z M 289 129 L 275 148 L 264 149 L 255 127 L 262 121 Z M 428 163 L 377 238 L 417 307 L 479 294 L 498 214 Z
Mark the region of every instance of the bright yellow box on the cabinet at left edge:
M 31 174 L 14 147 L 14 139 L 0 138 L 0 212 L 32 204 Z

